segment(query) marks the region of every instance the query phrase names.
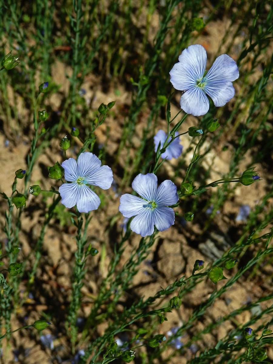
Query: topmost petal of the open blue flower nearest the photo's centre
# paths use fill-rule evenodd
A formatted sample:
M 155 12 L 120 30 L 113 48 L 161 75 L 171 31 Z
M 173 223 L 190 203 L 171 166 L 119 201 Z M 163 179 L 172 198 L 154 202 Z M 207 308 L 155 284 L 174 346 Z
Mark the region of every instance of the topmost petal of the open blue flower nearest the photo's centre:
M 132 188 L 147 201 L 152 201 L 157 191 L 157 176 L 154 173 L 139 173 L 132 182 Z

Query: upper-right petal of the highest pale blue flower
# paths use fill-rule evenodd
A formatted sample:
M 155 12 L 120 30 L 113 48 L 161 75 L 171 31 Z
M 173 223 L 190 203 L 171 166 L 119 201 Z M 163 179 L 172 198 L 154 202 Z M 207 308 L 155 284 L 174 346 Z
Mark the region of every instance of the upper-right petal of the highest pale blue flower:
M 236 62 L 227 54 L 217 57 L 213 65 L 206 74 L 207 81 L 210 82 L 231 82 L 239 77 Z

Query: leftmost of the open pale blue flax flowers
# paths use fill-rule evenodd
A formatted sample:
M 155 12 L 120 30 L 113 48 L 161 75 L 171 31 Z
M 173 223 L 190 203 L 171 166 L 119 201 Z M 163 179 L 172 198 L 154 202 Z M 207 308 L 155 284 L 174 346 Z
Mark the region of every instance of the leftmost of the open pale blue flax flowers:
M 84 152 L 76 159 L 69 158 L 62 163 L 64 178 L 72 183 L 59 187 L 62 204 L 69 209 L 77 204 L 79 212 L 89 212 L 99 207 L 100 199 L 88 185 L 99 186 L 104 190 L 111 187 L 113 173 L 110 167 L 101 166 L 102 162 L 93 153 Z

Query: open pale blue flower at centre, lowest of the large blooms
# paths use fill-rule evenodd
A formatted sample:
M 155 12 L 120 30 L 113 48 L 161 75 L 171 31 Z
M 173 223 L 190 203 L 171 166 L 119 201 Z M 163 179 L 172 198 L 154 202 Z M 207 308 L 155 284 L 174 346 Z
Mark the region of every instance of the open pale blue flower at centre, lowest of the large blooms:
M 167 179 L 157 187 L 154 173 L 140 173 L 132 182 L 132 188 L 142 198 L 126 193 L 120 197 L 119 205 L 124 217 L 135 216 L 130 225 L 132 231 L 144 237 L 153 234 L 154 225 L 163 231 L 174 224 L 174 210 L 167 207 L 178 201 L 173 182 Z

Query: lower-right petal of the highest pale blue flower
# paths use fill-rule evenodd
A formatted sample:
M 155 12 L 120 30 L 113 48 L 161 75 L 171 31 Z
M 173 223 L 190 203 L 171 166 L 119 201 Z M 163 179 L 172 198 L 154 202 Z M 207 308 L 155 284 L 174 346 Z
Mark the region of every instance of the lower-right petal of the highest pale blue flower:
M 217 107 L 224 106 L 235 94 L 232 82 L 208 82 L 204 91 L 213 99 Z

